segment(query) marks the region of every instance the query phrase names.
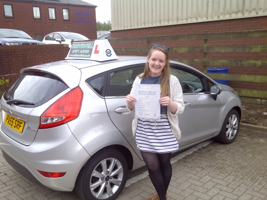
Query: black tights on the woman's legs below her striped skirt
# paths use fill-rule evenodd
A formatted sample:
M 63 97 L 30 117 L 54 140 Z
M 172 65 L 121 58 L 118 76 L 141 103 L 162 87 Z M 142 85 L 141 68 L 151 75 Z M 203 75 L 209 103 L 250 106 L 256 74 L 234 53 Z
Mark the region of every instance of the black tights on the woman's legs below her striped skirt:
M 160 200 L 166 200 L 166 193 L 172 175 L 170 164 L 171 153 L 156 154 L 143 152 L 141 154 L 149 170 L 149 176 Z

